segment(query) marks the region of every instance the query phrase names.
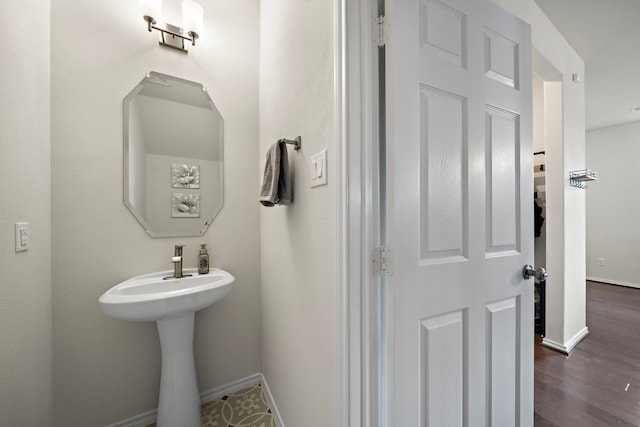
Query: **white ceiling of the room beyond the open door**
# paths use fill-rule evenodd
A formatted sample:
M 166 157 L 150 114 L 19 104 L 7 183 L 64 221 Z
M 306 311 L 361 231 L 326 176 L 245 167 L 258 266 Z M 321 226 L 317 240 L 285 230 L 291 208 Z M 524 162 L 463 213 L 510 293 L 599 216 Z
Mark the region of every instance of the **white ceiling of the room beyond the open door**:
M 640 1 L 535 2 L 585 62 L 587 130 L 640 120 Z

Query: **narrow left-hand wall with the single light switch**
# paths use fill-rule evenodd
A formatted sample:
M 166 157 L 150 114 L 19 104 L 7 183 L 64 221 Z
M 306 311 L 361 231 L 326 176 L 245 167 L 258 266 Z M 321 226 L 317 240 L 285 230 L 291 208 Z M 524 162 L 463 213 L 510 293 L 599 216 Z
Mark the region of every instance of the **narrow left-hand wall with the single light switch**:
M 0 9 L 0 426 L 48 426 L 50 8 L 25 0 Z M 31 248 L 16 253 L 14 223 L 22 221 Z

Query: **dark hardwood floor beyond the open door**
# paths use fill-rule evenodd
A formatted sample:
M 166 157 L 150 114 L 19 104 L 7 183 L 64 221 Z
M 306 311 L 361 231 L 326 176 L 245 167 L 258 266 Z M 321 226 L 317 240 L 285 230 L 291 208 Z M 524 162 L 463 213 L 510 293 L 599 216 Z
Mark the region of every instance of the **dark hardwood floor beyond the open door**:
M 587 327 L 569 356 L 537 338 L 536 427 L 640 426 L 640 289 L 587 282 Z

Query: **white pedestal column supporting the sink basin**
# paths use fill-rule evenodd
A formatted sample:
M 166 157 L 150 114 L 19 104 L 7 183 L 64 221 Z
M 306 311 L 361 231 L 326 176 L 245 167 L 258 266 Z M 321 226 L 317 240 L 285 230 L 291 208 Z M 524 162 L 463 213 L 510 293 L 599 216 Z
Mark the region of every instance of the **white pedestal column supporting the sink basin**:
M 195 313 L 156 321 L 162 370 L 158 427 L 201 427 L 200 393 L 193 360 Z

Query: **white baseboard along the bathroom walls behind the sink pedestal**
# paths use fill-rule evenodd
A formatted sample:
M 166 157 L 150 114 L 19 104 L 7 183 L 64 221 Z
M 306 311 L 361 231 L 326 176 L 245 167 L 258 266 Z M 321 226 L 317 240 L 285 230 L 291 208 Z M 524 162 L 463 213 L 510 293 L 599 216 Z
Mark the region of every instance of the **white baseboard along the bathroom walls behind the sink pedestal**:
M 262 385 L 262 391 L 264 393 L 264 397 L 269 404 L 269 408 L 271 408 L 271 414 L 273 415 L 273 420 L 276 423 L 277 427 L 284 427 L 282 423 L 282 418 L 280 418 L 280 413 L 278 412 L 278 407 L 273 400 L 273 396 L 271 396 L 271 390 L 269 390 L 269 386 L 267 385 L 267 381 L 264 378 L 262 373 L 257 373 L 253 375 L 249 375 L 246 378 L 239 379 L 237 381 L 233 381 L 229 384 L 225 384 L 220 387 L 213 388 L 211 390 L 205 391 L 200 394 L 200 404 L 212 402 L 214 400 L 221 399 L 224 396 L 228 396 L 230 394 L 236 393 L 245 388 L 254 386 L 254 385 Z M 143 414 L 136 415 L 135 417 L 127 418 L 126 420 L 119 421 L 114 424 L 110 424 L 107 427 L 144 427 L 156 421 L 156 417 L 158 415 L 158 410 L 154 409 L 151 411 L 147 411 Z

